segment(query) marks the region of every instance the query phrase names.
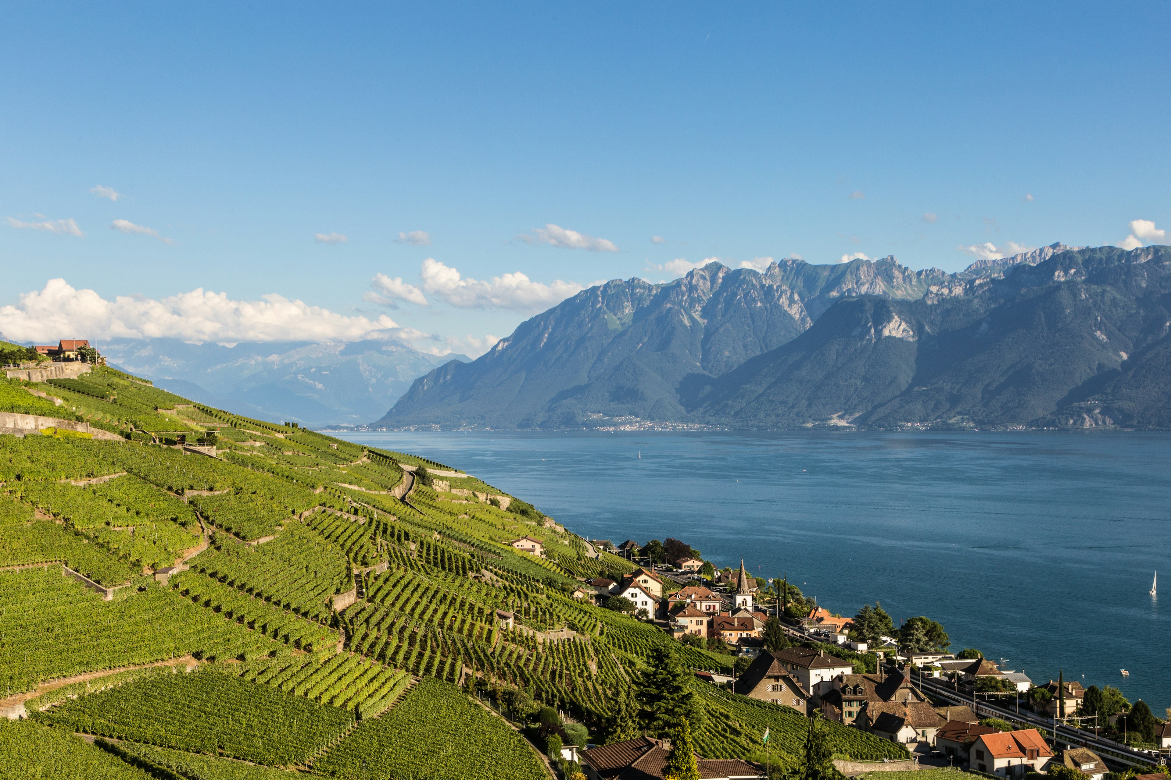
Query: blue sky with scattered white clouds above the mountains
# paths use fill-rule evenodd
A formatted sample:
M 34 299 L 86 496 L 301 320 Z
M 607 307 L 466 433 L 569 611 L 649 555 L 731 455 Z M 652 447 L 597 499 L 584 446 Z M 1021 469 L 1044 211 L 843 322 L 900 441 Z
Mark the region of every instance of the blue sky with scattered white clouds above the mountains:
M 1166 243 L 1169 27 L 1166 2 L 13 5 L 0 330 L 474 354 L 708 257 Z M 196 289 L 222 295 L 172 299 Z

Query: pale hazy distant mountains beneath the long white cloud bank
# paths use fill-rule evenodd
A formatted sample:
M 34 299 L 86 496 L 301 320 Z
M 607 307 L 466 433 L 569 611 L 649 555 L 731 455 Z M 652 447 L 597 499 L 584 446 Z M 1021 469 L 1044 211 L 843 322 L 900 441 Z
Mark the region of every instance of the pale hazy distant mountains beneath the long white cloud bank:
M 364 424 L 382 415 L 437 358 L 399 341 L 185 344 L 111 339 L 111 364 L 193 400 L 267 420 Z

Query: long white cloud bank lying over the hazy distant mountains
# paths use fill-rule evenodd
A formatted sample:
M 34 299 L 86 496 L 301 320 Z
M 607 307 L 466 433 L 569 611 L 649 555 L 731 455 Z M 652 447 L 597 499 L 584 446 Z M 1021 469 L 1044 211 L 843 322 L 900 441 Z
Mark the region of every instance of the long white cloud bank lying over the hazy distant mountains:
M 203 289 L 155 301 L 142 296 L 102 298 L 64 279 L 25 292 L 15 305 L 0 306 L 0 332 L 19 341 L 77 338 L 177 338 L 185 341 L 357 341 L 406 338 L 385 315 L 348 317 L 279 295 L 262 301 L 232 301 Z

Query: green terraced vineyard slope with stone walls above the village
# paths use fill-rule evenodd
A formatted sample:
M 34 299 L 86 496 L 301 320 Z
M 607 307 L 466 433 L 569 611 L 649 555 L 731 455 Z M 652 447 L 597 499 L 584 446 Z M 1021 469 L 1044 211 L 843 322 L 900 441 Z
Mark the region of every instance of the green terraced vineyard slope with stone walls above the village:
M 0 436 L 0 686 L 36 692 L 25 704 L 37 722 L 5 726 L 0 751 L 44 737 L 50 754 L 114 778 L 545 778 L 525 738 L 461 688 L 498 703 L 523 691 L 604 737 L 657 648 L 732 669 L 571 598 L 582 579 L 632 566 L 444 464 L 192 405 L 112 370 L 32 388 L 61 405 L 28 389 L 0 387 L 0 406 L 50 405 L 123 441 Z M 179 433 L 215 456 L 165 446 Z M 520 536 L 546 555 L 511 547 Z M 704 754 L 756 755 L 765 727 L 774 762 L 801 753 L 795 711 L 697 690 Z M 903 754 L 833 729 L 842 754 Z

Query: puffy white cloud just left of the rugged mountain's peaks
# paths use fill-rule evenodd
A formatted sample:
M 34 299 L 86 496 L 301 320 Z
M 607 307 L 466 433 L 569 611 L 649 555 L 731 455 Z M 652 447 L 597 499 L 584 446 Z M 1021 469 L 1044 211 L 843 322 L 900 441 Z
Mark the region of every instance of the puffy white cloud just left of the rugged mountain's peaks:
M 433 257 L 423 261 L 419 278 L 423 279 L 424 290 L 460 309 L 543 311 L 583 289 L 576 282 L 561 279 L 552 284 L 533 282 L 520 272 L 502 274 L 487 281 L 464 278 L 458 270 Z

